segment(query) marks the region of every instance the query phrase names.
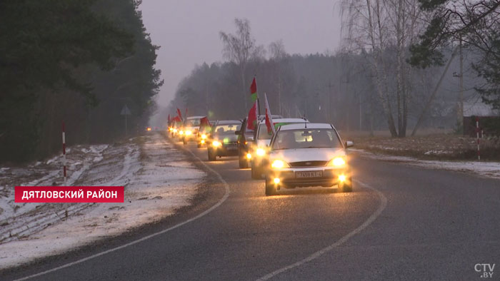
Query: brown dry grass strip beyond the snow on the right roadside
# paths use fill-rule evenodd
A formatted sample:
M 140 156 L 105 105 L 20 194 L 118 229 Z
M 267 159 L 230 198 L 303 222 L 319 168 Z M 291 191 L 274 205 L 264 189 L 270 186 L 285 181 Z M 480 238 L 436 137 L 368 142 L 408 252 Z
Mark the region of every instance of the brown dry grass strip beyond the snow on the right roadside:
M 408 156 L 423 160 L 476 160 L 476 138 L 452 133 L 434 133 L 406 138 L 366 136 L 359 132 L 345 133 L 344 140 L 354 141 L 355 148 L 371 153 Z M 500 142 L 481 138 L 481 160 L 499 161 Z

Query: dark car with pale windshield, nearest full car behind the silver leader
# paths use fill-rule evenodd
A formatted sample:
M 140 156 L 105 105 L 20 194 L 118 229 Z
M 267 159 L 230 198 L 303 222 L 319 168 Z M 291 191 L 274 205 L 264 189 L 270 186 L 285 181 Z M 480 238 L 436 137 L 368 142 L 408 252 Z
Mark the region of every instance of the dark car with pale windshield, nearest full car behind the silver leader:
M 216 157 L 238 155 L 238 138 L 235 134 L 241 128 L 240 120 L 216 121 L 206 141 L 209 161 Z

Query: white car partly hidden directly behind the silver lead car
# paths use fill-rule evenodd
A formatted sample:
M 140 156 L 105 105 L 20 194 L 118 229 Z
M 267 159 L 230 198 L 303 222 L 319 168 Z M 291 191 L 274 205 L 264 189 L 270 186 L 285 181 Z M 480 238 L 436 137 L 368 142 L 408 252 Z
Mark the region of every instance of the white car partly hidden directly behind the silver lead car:
M 274 126 L 279 127 L 286 124 L 309 123 L 306 118 L 276 118 L 273 119 Z M 251 178 L 260 179 L 265 173 L 265 160 L 272 135 L 267 132 L 266 121 L 259 121 L 254 133 L 254 142 L 251 145 Z

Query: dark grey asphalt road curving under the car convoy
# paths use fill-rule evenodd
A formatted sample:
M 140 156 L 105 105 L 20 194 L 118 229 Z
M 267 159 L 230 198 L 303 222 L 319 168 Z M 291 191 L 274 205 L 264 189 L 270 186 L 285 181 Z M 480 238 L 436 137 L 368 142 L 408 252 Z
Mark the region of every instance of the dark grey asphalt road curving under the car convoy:
M 488 280 L 476 264 L 496 264 L 489 280 L 500 280 L 499 180 L 353 155 L 353 193 L 296 188 L 266 197 L 264 181 L 251 180 L 236 158 L 209 163 L 205 148 L 189 150 L 228 186 L 210 172 L 205 188 L 213 192 L 182 219 L 220 203 L 229 188 L 224 202 L 33 280 Z M 0 279 L 74 262 L 177 220 Z

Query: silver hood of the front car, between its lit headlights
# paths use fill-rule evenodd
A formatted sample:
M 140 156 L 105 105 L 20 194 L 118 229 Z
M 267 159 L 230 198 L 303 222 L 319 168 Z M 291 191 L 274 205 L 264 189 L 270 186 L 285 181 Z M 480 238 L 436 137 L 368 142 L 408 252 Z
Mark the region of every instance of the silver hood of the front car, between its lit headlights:
M 344 148 L 297 148 L 274 150 L 269 154 L 271 160 L 280 159 L 289 163 L 301 161 L 329 161 L 345 156 Z

